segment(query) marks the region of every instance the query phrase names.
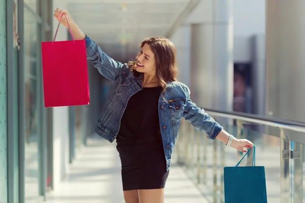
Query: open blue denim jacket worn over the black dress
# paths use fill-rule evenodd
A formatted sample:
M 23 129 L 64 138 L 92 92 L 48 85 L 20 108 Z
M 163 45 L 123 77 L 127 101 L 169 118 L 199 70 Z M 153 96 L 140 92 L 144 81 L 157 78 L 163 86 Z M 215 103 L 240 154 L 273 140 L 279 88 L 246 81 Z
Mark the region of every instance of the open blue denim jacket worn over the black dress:
M 95 126 L 95 132 L 112 143 L 119 131 L 120 120 L 129 98 L 143 88 L 142 75 L 135 77 L 126 63 L 110 58 L 87 36 L 85 41 L 87 59 L 104 77 L 114 81 Z M 204 130 L 210 139 L 217 137 L 222 126 L 192 102 L 190 89 L 183 83 L 168 83 L 165 100 L 162 94 L 159 98 L 159 120 L 166 166 L 169 170 L 182 117 L 191 122 L 197 130 Z

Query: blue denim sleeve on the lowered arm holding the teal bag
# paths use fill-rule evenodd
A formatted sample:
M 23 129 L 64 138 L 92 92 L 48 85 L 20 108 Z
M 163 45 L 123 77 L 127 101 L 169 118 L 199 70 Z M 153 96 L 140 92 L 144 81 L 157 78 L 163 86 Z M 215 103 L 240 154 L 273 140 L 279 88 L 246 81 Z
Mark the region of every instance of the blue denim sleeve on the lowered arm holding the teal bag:
M 187 86 L 185 86 L 185 90 L 187 93 L 187 106 L 185 107 L 183 117 L 198 131 L 204 130 L 209 139 L 215 140 L 223 127 L 192 102 L 190 99 L 190 89 Z

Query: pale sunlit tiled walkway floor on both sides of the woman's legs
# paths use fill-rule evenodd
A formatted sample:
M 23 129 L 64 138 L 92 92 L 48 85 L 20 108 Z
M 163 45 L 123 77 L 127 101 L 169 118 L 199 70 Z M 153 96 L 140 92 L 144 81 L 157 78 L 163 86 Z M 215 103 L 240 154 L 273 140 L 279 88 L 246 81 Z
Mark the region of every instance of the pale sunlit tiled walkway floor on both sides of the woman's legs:
M 90 140 L 71 164 L 67 179 L 47 195 L 48 203 L 123 203 L 120 160 L 115 144 Z M 165 187 L 165 202 L 205 203 L 182 168 L 173 163 Z

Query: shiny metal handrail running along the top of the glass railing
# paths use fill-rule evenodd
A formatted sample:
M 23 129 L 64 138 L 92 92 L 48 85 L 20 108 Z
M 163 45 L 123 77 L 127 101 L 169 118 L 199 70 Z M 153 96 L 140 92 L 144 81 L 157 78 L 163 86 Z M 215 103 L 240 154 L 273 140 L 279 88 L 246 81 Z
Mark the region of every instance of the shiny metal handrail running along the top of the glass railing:
M 209 115 L 219 116 L 223 118 L 232 118 L 241 121 L 247 121 L 257 124 L 268 125 L 272 127 L 278 127 L 298 132 L 305 132 L 305 122 L 284 120 L 279 118 L 272 118 L 267 116 L 240 113 L 240 112 L 228 112 L 214 109 L 203 108 L 204 111 Z

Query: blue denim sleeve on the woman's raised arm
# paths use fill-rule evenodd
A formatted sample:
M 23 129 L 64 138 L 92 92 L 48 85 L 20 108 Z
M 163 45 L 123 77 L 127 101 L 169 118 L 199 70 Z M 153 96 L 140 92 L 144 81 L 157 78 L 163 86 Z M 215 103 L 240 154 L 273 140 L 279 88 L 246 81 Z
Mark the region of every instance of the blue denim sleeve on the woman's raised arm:
M 85 41 L 88 61 L 92 62 L 104 77 L 115 81 L 127 67 L 127 64 L 113 60 L 88 36 L 86 36 Z

